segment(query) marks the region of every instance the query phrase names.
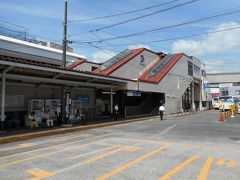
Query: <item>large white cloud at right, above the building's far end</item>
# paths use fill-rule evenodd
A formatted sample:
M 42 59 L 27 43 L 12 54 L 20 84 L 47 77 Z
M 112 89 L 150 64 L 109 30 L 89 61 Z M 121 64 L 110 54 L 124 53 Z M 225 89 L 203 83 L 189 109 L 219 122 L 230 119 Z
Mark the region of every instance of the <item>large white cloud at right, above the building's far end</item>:
M 219 31 L 239 27 L 239 23 L 229 22 L 223 23 L 208 32 Z M 207 53 L 224 52 L 228 49 L 240 45 L 240 29 L 225 31 L 220 33 L 213 33 L 206 35 L 202 40 L 178 40 L 173 43 L 172 51 L 184 52 L 193 56 L 205 55 Z

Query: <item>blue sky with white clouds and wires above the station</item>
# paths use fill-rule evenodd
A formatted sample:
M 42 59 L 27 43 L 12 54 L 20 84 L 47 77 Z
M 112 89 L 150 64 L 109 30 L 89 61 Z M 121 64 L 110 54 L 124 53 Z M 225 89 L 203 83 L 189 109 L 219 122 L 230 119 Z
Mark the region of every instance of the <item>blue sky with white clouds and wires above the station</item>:
M 111 15 L 169 1 L 171 0 L 68 0 L 68 20 Z M 184 52 L 188 55 L 193 55 L 206 64 L 207 72 L 239 72 L 240 28 L 158 43 L 147 42 L 240 27 L 240 12 L 208 21 L 160 30 L 142 36 L 116 39 L 93 45 L 81 44 L 82 41 L 91 42 L 137 33 L 222 12 L 240 10 L 240 1 L 238 0 L 199 0 L 102 31 L 89 32 L 189 1 L 191 0 L 179 0 L 165 6 L 107 19 L 69 22 L 68 38 L 70 41 L 73 41 L 73 44 L 70 44 L 70 46 L 74 48 L 76 53 L 82 54 L 89 60 L 96 62 L 102 62 L 124 49 L 144 46 L 157 52 Z M 38 39 L 43 37 L 46 39 L 42 40 L 49 41 L 50 39 L 61 43 L 63 37 L 63 12 L 64 0 L 1 0 L 0 20 L 23 26 L 26 29 L 3 22 L 0 22 L 0 25 L 26 30 L 28 33 L 39 36 Z

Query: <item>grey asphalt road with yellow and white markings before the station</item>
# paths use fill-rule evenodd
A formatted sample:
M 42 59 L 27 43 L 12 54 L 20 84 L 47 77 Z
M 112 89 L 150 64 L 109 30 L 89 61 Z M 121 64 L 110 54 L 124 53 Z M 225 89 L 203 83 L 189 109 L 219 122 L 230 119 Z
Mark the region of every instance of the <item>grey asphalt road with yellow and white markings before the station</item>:
M 240 117 L 150 119 L 0 145 L 0 179 L 239 180 Z

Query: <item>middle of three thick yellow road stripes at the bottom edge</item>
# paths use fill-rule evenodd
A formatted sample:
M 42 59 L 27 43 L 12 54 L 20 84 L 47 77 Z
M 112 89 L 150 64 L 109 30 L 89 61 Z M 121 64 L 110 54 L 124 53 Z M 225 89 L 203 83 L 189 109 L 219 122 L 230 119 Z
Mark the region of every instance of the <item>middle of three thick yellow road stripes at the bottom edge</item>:
M 192 163 L 196 159 L 198 159 L 198 156 L 192 156 L 186 161 L 180 163 L 178 166 L 170 170 L 168 173 L 164 174 L 162 177 L 159 178 L 159 180 L 168 180 L 171 176 L 174 176 L 178 171 L 186 167 L 188 164 Z

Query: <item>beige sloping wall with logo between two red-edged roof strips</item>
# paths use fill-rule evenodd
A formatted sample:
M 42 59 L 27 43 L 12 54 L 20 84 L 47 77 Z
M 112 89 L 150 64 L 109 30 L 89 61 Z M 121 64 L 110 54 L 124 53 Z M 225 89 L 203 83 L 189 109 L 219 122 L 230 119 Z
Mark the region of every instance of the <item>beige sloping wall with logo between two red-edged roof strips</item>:
M 140 64 L 141 55 L 144 55 L 144 64 Z M 137 79 L 139 76 L 139 73 L 141 73 L 147 65 L 150 65 L 152 62 L 156 61 L 158 59 L 158 55 L 144 50 L 141 54 L 137 55 L 133 59 L 131 59 L 129 62 L 118 68 L 116 71 L 114 71 L 111 76 L 115 77 L 122 77 L 127 79 Z

